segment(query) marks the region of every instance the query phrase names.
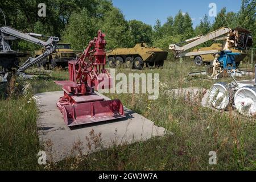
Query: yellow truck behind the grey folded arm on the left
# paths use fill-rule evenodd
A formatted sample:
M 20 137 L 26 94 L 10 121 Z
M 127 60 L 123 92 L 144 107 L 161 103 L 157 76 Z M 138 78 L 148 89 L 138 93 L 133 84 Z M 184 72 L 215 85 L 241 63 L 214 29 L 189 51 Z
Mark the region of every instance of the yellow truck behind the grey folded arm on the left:
M 57 52 L 52 53 L 51 56 L 48 56 L 47 59 L 40 61 L 38 64 L 40 67 L 49 68 L 49 65 L 51 65 L 51 68 L 55 67 L 67 67 L 68 61 L 76 59 L 76 54 L 71 49 L 71 45 L 69 43 L 57 43 Z M 42 49 L 37 50 L 34 52 L 34 57 L 37 57 L 41 55 L 43 52 Z

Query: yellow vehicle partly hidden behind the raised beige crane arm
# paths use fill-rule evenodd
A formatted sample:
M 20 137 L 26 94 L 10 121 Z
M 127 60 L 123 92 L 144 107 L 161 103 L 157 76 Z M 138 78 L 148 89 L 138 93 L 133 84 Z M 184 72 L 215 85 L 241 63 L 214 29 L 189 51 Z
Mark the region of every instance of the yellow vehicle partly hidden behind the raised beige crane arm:
M 213 43 L 212 46 L 210 47 L 201 47 L 198 49 L 193 49 L 193 52 L 197 52 L 197 51 L 211 51 L 211 50 L 218 50 L 221 51 L 223 49 L 223 46 L 221 43 Z M 231 48 L 230 51 L 232 52 L 240 52 L 241 55 L 240 56 L 236 56 L 236 62 L 240 62 L 242 61 L 245 56 L 246 53 L 243 53 L 241 51 L 238 51 L 237 49 L 233 49 Z M 196 65 L 202 65 L 203 63 L 210 63 L 211 61 L 214 60 L 214 56 L 212 54 L 208 54 L 208 55 L 196 55 L 196 56 L 191 56 L 191 59 L 194 60 Z

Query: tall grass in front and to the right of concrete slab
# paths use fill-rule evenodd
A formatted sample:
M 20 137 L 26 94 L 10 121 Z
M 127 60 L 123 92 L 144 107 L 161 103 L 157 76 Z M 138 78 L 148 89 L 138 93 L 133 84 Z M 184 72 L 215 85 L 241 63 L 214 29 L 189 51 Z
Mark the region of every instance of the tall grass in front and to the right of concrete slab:
M 252 68 L 250 65 L 246 65 Z M 148 100 L 148 94 L 106 94 L 118 98 L 123 105 L 171 134 L 126 146 L 114 147 L 90 155 L 81 154 L 52 164 L 48 169 L 79 170 L 247 170 L 255 168 L 256 130 L 253 118 L 245 118 L 237 111 L 215 111 L 202 107 L 199 93 L 193 98 L 174 96 L 166 90 L 199 87 L 209 89 L 214 80 L 191 78 L 188 72 L 204 70 L 193 63 L 168 63 L 163 69 L 131 71 L 116 69 L 116 73 L 159 73 L 158 100 Z M 56 73 L 57 75 L 62 73 Z M 247 77 L 250 78 L 250 77 Z M 238 80 L 246 77 L 238 78 Z M 220 81 L 230 82 L 231 78 Z M 98 134 L 92 134 L 94 145 Z M 82 142 L 82 141 L 81 141 Z M 78 142 L 79 145 L 79 142 Z M 78 151 L 79 147 L 76 147 Z M 209 165 L 208 154 L 217 152 L 217 165 Z

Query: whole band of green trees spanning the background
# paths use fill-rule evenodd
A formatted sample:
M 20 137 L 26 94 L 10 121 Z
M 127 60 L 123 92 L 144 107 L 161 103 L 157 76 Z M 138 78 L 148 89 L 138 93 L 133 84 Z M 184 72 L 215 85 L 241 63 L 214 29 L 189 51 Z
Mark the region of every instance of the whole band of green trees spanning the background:
M 207 34 L 220 27 L 237 26 L 253 32 L 254 46 L 256 34 L 256 0 L 242 0 L 238 13 L 220 10 L 213 23 L 205 15 L 199 25 L 193 28 L 189 13 L 181 10 L 166 22 L 156 20 L 154 26 L 139 20 L 126 20 L 122 11 L 110 0 L 45 0 L 46 17 L 38 16 L 39 0 L 0 1 L 8 26 L 23 32 L 36 32 L 48 36 L 59 36 L 61 42 L 69 42 L 74 49 L 84 48 L 97 35 L 97 30 L 106 33 L 107 48 L 133 47 L 137 43 L 147 43 L 168 49 L 168 44 L 178 43 L 200 34 Z M 0 19 L 4 25 L 3 18 Z M 209 43 L 208 43 L 209 44 Z M 205 46 L 209 46 L 205 44 Z M 19 49 L 33 49 L 29 43 L 19 42 Z

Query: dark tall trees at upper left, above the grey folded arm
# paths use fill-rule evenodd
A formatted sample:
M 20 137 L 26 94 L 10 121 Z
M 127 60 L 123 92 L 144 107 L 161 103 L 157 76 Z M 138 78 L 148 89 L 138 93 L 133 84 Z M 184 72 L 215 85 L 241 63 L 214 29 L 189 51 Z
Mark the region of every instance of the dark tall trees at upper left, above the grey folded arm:
M 102 19 L 106 11 L 113 7 L 110 0 L 44 0 L 46 17 L 39 17 L 38 4 L 40 2 L 42 1 L 0 1 L 0 7 L 6 15 L 7 26 L 22 32 L 36 32 L 49 36 L 59 36 L 60 38 L 72 14 L 81 14 L 82 10 L 87 10 L 87 16 L 92 17 L 93 20 Z M 0 18 L 0 24 L 1 26 L 4 24 L 3 18 Z M 31 43 L 19 42 L 19 49 L 33 49 L 35 47 L 31 46 Z

